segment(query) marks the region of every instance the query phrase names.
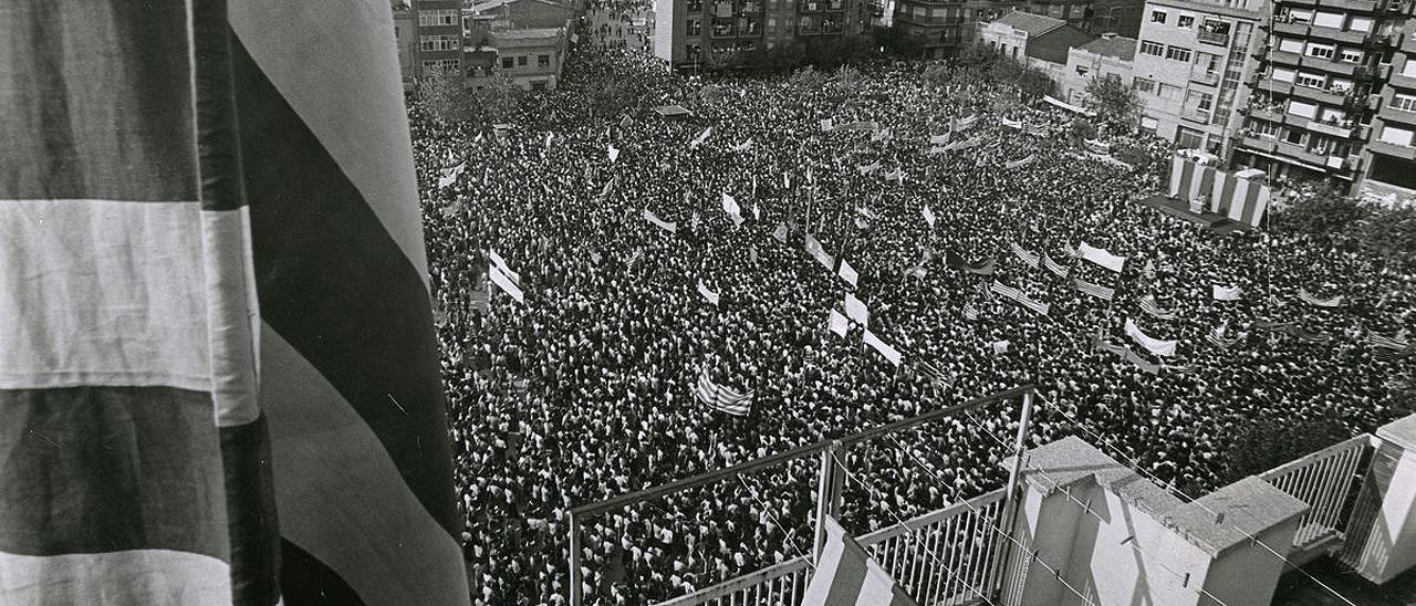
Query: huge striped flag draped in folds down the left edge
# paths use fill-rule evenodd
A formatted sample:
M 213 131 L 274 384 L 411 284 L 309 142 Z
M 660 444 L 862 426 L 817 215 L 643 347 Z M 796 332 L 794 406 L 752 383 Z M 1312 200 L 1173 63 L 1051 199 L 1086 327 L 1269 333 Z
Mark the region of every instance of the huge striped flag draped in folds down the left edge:
M 0 17 L 0 602 L 467 603 L 388 4 Z

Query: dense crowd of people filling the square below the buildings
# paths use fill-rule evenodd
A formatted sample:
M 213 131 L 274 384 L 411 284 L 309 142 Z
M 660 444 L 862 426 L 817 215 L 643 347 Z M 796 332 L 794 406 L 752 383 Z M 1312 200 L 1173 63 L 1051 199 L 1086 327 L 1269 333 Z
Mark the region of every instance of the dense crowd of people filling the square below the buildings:
M 528 99 L 500 133 L 415 106 L 474 603 L 562 603 L 571 507 L 1018 385 L 1038 387 L 1031 443 L 1104 436 L 1103 450 L 1185 490 L 1216 484 L 1225 439 L 1249 419 L 1337 418 L 1359 432 L 1393 418 L 1383 404 L 1393 362 L 1358 337 L 1410 328 L 1412 276 L 1351 242 L 1221 235 L 1163 215 L 1136 200 L 1161 187 L 1167 144 L 1119 139 L 1153 161 L 1097 161 L 1069 140 L 1079 118 L 969 69 L 944 84 L 925 82 L 925 69 L 701 82 L 599 50 L 575 55 L 561 86 Z M 578 103 L 602 78 L 633 79 L 644 93 L 590 118 Z M 661 105 L 692 116 L 650 110 Z M 875 125 L 824 130 L 826 119 Z M 935 149 L 930 137 L 950 129 L 952 142 L 976 144 Z M 724 194 L 739 217 L 724 211 Z M 813 259 L 807 235 L 858 283 Z M 1126 256 L 1123 272 L 1069 253 L 1082 242 Z M 1022 262 L 1011 244 L 1114 287 L 1114 299 Z M 524 302 L 489 286 L 491 251 Z M 995 270 L 953 269 L 949 253 L 995 259 Z M 988 293 L 994 280 L 1048 313 Z M 1214 285 L 1243 296 L 1215 300 Z M 1300 289 L 1344 306 L 1300 302 Z M 847 293 L 901 364 L 862 344 L 860 327 L 828 330 Z M 1175 317 L 1144 313 L 1147 295 Z M 1150 358 L 1165 362 L 1158 372 L 1095 345 L 1130 343 L 1127 319 L 1180 341 L 1174 357 Z M 1263 331 L 1256 320 L 1332 338 Z M 1209 343 L 1221 326 L 1239 341 Z M 750 413 L 700 404 L 704 374 L 750 391 Z M 852 447 L 847 530 L 1000 487 L 1017 418 L 1018 402 L 998 402 Z M 586 603 L 650 603 L 801 555 L 816 464 L 582 521 Z

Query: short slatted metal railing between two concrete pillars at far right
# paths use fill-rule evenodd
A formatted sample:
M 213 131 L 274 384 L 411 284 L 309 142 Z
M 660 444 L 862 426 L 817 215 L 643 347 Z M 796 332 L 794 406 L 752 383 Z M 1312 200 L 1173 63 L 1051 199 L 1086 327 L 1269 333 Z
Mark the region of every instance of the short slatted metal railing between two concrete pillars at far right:
M 1371 436 L 1364 433 L 1259 474 L 1311 507 L 1298 520 L 1294 549 L 1342 538 L 1351 510 L 1348 497 L 1365 471 L 1361 466 L 1371 449 Z

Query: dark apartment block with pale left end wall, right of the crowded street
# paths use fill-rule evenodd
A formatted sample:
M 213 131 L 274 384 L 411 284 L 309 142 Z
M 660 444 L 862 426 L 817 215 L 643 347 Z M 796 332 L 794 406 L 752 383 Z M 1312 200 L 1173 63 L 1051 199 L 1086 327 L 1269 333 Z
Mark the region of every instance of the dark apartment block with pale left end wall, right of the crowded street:
M 854 35 L 872 10 L 865 0 L 656 0 L 654 55 L 691 68 L 711 52 Z

